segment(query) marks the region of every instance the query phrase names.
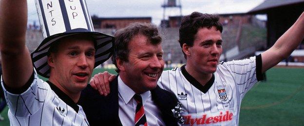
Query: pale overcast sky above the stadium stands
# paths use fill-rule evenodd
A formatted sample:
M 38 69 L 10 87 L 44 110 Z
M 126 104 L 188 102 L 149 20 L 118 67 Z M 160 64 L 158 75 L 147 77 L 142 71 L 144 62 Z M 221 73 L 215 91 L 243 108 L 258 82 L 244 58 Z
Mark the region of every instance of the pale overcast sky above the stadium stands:
M 179 0 L 177 0 L 179 1 Z M 181 0 L 182 15 L 194 11 L 209 14 L 247 13 L 264 0 Z M 152 17 L 159 25 L 163 19 L 164 0 L 87 0 L 91 16 L 99 17 Z M 178 8 L 167 8 L 168 16 L 180 15 Z M 38 21 L 35 0 L 28 0 L 28 22 Z

